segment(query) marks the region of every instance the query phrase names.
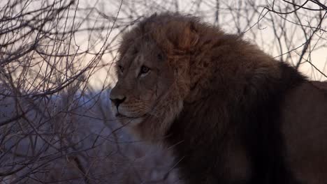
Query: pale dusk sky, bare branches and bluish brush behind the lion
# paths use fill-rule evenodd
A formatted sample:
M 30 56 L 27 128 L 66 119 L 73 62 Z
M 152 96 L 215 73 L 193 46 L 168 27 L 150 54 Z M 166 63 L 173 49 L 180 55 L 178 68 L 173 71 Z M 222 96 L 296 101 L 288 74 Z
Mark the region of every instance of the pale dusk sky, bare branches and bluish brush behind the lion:
M 0 183 L 180 183 L 169 148 L 110 113 L 121 33 L 195 15 L 327 79 L 326 0 L 0 1 Z

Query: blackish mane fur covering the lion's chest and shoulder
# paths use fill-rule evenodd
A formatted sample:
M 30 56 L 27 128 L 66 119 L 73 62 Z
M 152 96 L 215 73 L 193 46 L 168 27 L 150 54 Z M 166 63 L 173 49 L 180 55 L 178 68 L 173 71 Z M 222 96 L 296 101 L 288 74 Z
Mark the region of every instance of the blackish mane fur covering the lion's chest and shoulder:
M 247 181 L 233 183 L 296 183 L 284 162 L 279 106 L 286 92 L 305 78 L 286 63 L 279 63 L 279 68 L 282 70 L 279 79 L 266 77 L 255 91 L 248 86 L 242 98 L 228 104 L 231 117 L 224 130 L 212 129 L 212 124 L 221 123 L 221 102 L 216 100 L 218 91 L 217 95 L 188 105 L 188 109 L 198 109 L 198 114 L 189 114 L 189 110 L 184 109 L 175 119 L 167 141 L 175 145 L 175 161 L 184 179 L 189 183 L 232 183 L 224 169 L 224 146 L 230 139 L 239 139 L 252 164 L 248 168 L 252 176 Z M 208 101 L 213 107 L 201 109 Z

